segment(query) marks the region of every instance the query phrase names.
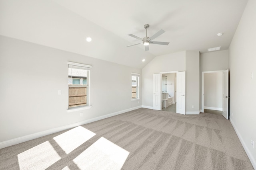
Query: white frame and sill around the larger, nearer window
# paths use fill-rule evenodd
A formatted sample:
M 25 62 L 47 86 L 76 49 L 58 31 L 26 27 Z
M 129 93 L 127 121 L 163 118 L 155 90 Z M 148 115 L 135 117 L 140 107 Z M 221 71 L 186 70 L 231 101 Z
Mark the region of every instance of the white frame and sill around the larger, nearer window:
M 76 107 L 69 107 L 67 111 L 77 111 L 77 110 L 84 110 L 84 109 L 90 109 L 90 68 L 92 68 L 91 65 L 87 65 L 87 64 L 81 64 L 81 63 L 74 63 L 74 62 L 69 62 L 68 61 L 68 66 L 69 65 L 73 65 L 73 66 L 82 66 L 82 67 L 86 67 L 87 68 L 87 102 L 86 102 L 86 106 L 76 106 Z M 69 90 L 69 86 L 70 84 L 68 84 L 68 90 Z M 69 104 L 69 96 L 68 96 L 68 104 Z

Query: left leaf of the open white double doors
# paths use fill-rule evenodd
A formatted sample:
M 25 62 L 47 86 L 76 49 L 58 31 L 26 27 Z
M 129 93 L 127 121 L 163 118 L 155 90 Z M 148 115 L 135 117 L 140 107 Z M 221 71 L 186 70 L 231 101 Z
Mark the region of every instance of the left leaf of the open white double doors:
M 153 74 L 153 109 L 162 109 L 162 99 L 161 99 L 161 74 Z

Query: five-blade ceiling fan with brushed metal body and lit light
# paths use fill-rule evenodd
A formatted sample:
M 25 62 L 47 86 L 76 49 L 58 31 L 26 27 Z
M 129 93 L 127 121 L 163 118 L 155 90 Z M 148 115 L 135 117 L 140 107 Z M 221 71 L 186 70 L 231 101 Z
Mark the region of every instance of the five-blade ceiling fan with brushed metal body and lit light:
M 137 37 L 136 35 L 129 34 L 129 36 L 141 40 L 142 43 L 132 44 L 132 45 L 128 45 L 128 46 L 126 46 L 126 47 L 131 47 L 131 46 L 133 46 L 133 45 L 143 44 L 143 45 L 145 46 L 145 51 L 148 51 L 148 50 L 149 50 L 149 47 L 148 47 L 149 44 L 159 44 L 159 45 L 168 45 L 168 44 L 169 44 L 168 42 L 152 41 L 153 39 L 155 39 L 156 37 L 158 37 L 159 35 L 161 35 L 161 34 L 164 33 L 165 31 L 162 30 L 162 29 L 160 29 L 160 30 L 159 30 L 157 33 L 155 33 L 154 35 L 152 35 L 151 37 L 148 37 L 148 36 L 147 36 L 147 29 L 148 29 L 148 27 L 149 27 L 148 24 L 145 24 L 145 25 L 144 25 L 144 28 L 146 29 L 146 37 L 144 37 L 144 38 L 140 38 L 140 37 Z

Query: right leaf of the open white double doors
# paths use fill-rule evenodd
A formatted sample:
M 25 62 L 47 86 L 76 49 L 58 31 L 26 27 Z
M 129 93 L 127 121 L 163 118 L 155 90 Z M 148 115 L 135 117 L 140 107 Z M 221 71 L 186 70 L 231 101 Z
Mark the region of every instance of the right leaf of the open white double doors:
M 177 72 L 176 80 L 176 113 L 186 114 L 186 72 Z

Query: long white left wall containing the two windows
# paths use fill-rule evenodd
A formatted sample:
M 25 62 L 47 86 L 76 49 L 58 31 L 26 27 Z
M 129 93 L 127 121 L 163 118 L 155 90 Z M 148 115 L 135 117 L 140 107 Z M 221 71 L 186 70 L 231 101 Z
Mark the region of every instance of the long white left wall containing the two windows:
M 141 105 L 131 101 L 140 69 L 9 37 L 0 44 L 0 143 Z M 91 109 L 67 112 L 67 61 L 92 65 Z

